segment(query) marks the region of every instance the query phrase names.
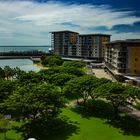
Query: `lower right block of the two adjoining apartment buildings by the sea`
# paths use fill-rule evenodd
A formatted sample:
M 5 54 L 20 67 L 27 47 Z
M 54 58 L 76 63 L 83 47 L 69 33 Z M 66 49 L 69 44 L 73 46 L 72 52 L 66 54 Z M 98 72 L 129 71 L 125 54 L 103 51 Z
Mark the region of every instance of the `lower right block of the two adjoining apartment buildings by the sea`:
M 81 56 L 87 58 L 103 59 L 107 42 L 110 42 L 110 35 L 106 34 L 79 35 Z

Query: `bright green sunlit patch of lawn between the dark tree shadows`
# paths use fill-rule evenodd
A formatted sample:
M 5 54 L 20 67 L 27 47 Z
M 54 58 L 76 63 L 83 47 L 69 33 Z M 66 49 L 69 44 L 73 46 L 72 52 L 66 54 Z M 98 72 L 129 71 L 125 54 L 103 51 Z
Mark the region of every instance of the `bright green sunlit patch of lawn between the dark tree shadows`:
M 114 128 L 99 118 L 82 118 L 81 115 L 65 109 L 63 114 L 70 117 L 71 121 L 77 121 L 80 128 L 78 134 L 73 134 L 68 140 L 140 140 L 139 136 L 123 135 L 119 128 Z

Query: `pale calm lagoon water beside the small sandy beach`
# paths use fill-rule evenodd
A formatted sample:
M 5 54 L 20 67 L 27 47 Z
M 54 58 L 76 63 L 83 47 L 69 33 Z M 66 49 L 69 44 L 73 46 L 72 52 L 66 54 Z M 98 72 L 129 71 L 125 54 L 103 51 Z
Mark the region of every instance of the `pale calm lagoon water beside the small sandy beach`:
M 26 72 L 35 71 L 38 72 L 40 69 L 33 65 L 33 61 L 30 59 L 6 59 L 0 60 L 0 67 L 10 66 L 11 68 L 19 67 L 21 70 Z

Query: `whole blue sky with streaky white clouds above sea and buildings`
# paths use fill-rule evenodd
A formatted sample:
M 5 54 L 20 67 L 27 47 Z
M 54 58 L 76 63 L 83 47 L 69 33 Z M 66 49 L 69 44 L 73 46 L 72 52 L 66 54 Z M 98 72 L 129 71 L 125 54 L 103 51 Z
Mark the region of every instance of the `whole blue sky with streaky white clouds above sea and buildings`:
M 51 45 L 51 31 L 140 39 L 140 0 L 0 0 L 0 46 Z

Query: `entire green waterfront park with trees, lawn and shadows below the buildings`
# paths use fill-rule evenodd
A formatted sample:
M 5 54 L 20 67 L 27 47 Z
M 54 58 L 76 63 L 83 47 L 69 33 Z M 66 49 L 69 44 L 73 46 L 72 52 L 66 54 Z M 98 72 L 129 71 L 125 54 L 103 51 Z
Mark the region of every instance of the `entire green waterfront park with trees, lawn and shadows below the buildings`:
M 140 89 L 43 55 L 39 72 L 0 68 L 0 140 L 139 140 Z

